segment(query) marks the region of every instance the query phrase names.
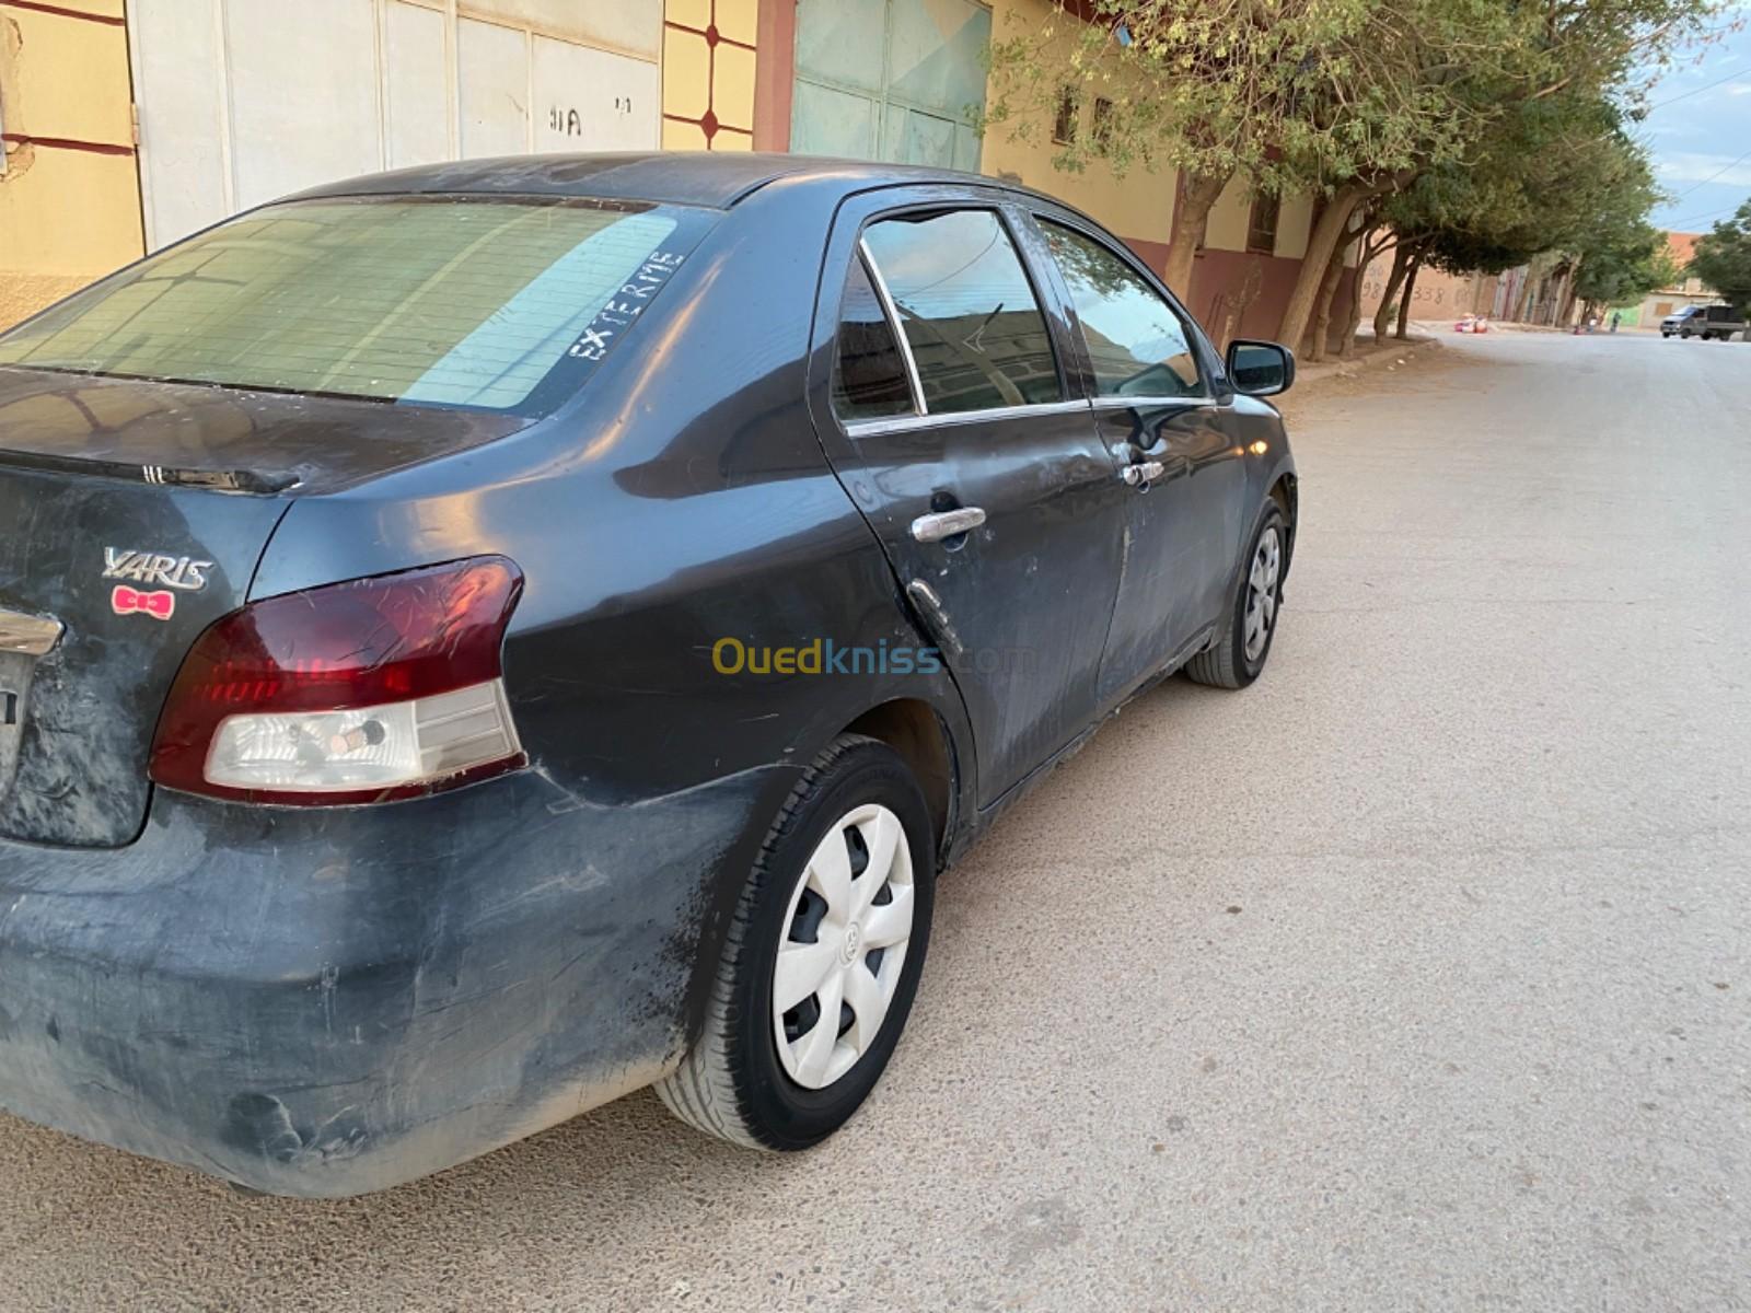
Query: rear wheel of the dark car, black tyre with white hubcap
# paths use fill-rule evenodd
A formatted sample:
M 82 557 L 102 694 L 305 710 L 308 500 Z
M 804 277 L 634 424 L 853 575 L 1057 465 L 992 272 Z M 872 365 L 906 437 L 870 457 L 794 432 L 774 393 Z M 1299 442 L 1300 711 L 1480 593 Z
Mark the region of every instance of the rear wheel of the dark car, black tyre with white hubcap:
M 819 1143 L 893 1056 L 930 944 L 935 856 L 918 781 L 844 735 L 804 772 L 742 886 L 706 1026 L 657 1094 L 749 1148 Z

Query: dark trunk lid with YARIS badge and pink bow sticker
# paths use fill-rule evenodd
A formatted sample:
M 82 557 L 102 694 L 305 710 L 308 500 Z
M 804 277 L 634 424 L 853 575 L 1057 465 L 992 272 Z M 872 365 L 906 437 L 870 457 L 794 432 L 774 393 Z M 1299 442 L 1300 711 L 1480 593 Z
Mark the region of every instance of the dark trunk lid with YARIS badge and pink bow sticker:
M 527 420 L 0 368 L 0 839 L 119 847 L 182 658 L 289 499 Z M 60 625 L 40 642 L 7 634 Z

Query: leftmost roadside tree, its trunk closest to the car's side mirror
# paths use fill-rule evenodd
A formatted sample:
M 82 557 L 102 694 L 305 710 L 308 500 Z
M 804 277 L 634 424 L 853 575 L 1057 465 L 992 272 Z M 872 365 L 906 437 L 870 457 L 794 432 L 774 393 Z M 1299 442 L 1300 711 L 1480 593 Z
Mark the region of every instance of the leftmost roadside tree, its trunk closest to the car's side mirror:
M 1471 7 L 1483 0 L 1445 0 Z M 993 42 L 986 128 L 1038 140 L 1065 95 L 1098 88 L 1103 130 L 1059 142 L 1054 165 L 1101 158 L 1180 173 L 1166 280 L 1189 291 L 1210 210 L 1240 179 L 1282 194 L 1315 175 L 1380 175 L 1413 144 L 1439 138 L 1441 107 L 1375 86 L 1378 68 L 1420 42 L 1406 9 L 1441 0 L 1084 0 L 1089 21 L 1061 19 Z M 1452 53 L 1450 53 L 1452 54 Z M 1340 228 L 1350 219 L 1340 217 Z M 1329 250 L 1320 257 L 1326 270 Z

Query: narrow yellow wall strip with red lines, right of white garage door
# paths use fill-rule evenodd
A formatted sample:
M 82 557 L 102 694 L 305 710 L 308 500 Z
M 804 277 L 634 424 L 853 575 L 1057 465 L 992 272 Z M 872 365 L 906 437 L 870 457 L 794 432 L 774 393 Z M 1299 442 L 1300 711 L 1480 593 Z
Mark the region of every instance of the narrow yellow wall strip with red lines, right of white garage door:
M 760 0 L 667 0 L 664 151 L 755 149 Z

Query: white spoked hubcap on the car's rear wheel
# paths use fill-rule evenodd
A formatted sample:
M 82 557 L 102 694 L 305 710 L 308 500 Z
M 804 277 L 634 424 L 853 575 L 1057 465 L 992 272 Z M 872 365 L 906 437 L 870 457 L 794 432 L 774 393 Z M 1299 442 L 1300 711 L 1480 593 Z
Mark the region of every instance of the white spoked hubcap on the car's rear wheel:
M 826 1089 L 868 1052 L 911 938 L 905 828 L 886 807 L 858 807 L 814 849 L 784 914 L 772 970 L 772 1033 L 791 1080 Z

